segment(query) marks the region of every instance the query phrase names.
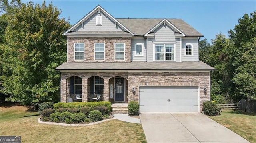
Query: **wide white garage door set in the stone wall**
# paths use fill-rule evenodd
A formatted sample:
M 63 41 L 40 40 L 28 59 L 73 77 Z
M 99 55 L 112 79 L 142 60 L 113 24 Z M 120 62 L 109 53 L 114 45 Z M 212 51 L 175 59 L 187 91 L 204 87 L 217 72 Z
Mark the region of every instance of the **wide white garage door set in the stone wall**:
M 198 86 L 140 86 L 140 112 L 198 112 Z

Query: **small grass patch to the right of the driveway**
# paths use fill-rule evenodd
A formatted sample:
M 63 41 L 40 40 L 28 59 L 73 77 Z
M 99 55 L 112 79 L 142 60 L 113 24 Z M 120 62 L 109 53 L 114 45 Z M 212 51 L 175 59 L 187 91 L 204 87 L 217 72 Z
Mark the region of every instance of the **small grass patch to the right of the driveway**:
M 219 116 L 210 116 L 251 143 L 256 143 L 256 114 L 240 110 L 222 110 Z

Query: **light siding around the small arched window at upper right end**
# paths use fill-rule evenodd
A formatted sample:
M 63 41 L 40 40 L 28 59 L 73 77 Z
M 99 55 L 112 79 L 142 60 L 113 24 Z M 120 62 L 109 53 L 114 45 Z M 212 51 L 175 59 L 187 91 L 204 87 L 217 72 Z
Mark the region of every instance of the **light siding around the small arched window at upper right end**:
M 193 44 L 193 56 L 192 57 L 186 57 L 185 56 L 185 45 L 186 44 Z M 182 56 L 182 61 L 197 61 L 198 57 L 198 39 L 182 39 L 182 47 L 181 47 L 181 56 Z

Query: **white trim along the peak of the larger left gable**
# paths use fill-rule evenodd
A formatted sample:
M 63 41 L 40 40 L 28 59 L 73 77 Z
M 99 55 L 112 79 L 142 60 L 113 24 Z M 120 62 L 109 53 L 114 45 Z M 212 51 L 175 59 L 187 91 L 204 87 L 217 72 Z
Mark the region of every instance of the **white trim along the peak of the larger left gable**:
M 126 28 L 124 25 L 122 25 L 120 22 L 118 22 L 118 20 L 116 20 L 113 16 L 111 16 L 106 10 L 104 10 L 100 5 L 96 6 L 96 8 L 94 8 L 91 12 L 89 12 L 88 14 L 86 14 L 86 16 L 84 16 L 81 20 L 79 20 L 78 22 L 76 22 L 76 24 L 74 24 L 72 27 L 70 27 L 70 29 L 68 29 L 66 32 L 64 32 L 63 35 L 66 35 L 68 32 L 73 31 L 74 29 L 76 29 L 81 23 L 84 23 L 85 20 L 87 20 L 88 18 L 90 18 L 90 16 L 92 16 L 95 12 L 100 12 L 100 10 L 106 14 L 106 16 L 108 16 L 108 18 L 112 19 L 114 22 L 116 22 L 118 25 L 120 25 L 121 28 L 123 28 L 124 30 L 128 31 L 130 34 L 134 35 L 134 33 L 132 33 L 132 31 L 130 31 L 128 28 Z M 84 26 L 84 25 L 83 25 Z

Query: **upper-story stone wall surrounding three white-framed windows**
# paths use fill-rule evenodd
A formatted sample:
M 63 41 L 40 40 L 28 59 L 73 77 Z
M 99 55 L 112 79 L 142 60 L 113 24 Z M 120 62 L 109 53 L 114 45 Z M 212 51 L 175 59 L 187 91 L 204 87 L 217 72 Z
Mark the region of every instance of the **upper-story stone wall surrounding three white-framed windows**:
M 74 60 L 74 43 L 84 43 L 84 60 Z M 105 43 L 105 60 L 94 60 L 94 43 Z M 115 60 L 115 43 L 125 44 L 124 60 Z M 68 37 L 67 62 L 130 62 L 131 38 L 129 37 Z

